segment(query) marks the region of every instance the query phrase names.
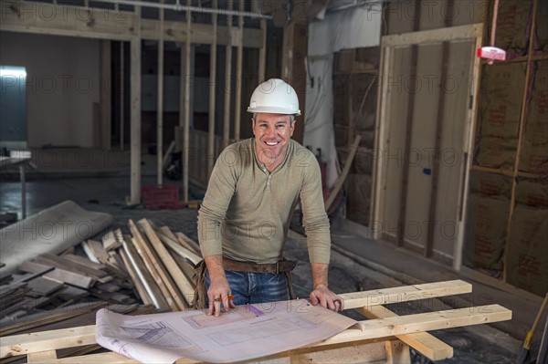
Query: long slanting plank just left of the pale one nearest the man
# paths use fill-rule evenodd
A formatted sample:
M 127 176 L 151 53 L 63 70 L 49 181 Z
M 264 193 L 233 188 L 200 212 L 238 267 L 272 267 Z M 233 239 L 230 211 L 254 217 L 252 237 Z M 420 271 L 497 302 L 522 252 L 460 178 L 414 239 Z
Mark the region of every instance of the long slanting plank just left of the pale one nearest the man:
M 165 271 L 162 262 L 158 260 L 157 256 L 153 253 L 149 243 L 144 240 L 141 232 L 139 231 L 137 225 L 130 220 L 130 230 L 132 231 L 134 239 L 132 243 L 135 244 L 135 248 L 142 257 L 144 265 L 153 276 L 154 281 L 160 287 L 160 290 L 167 301 L 167 304 L 173 311 L 184 309 L 184 303 L 181 300 L 181 293 L 175 289 L 172 281 Z

